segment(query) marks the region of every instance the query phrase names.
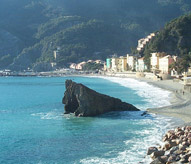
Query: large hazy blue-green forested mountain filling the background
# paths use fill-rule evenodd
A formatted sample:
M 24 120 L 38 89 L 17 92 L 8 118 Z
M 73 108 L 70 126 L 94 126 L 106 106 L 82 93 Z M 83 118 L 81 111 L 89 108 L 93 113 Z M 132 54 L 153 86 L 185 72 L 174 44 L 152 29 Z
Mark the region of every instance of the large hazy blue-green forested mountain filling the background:
M 137 40 L 191 11 L 189 0 L 1 0 L 0 68 L 26 69 L 125 54 Z

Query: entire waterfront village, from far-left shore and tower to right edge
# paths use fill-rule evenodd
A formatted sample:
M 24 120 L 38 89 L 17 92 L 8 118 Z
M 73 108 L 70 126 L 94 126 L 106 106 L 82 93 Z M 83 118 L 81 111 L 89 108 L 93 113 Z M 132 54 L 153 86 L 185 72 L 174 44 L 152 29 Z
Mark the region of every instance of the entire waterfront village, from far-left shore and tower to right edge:
M 175 62 L 179 62 L 180 57 L 175 55 L 169 55 L 165 52 L 153 52 L 150 57 L 150 68 L 147 68 L 144 57 L 140 54 L 144 50 L 149 41 L 155 37 L 155 33 L 149 34 L 147 37 L 138 40 L 137 54 L 127 54 L 125 56 L 118 57 L 116 54 L 107 58 L 106 61 L 102 60 L 88 60 L 80 63 L 70 63 L 69 68 L 57 68 L 57 58 L 60 55 L 60 48 L 57 47 L 53 51 L 54 61 L 46 65 L 38 65 L 36 69 L 27 70 L 24 72 L 12 73 L 10 70 L 0 71 L 0 76 L 62 76 L 68 74 L 91 74 L 99 73 L 108 76 L 124 76 L 124 77 L 137 77 L 148 78 L 152 80 L 167 80 L 174 78 L 184 84 L 184 88 L 191 92 L 191 68 L 188 68 L 188 72 L 178 74 L 175 69 L 171 69 L 171 65 Z M 97 69 L 96 71 L 84 69 L 87 64 L 101 65 L 103 69 Z M 38 71 L 45 68 L 45 72 Z M 53 71 L 52 71 L 53 70 Z M 149 70 L 149 71 L 148 71 Z

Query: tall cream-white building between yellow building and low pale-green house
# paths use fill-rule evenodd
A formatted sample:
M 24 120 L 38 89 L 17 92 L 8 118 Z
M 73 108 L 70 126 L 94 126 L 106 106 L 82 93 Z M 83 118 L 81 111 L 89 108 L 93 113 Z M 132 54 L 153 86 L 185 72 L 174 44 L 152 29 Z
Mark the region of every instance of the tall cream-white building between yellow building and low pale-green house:
M 129 55 L 127 54 L 127 70 L 133 71 L 136 69 L 136 62 L 139 58 L 138 54 Z

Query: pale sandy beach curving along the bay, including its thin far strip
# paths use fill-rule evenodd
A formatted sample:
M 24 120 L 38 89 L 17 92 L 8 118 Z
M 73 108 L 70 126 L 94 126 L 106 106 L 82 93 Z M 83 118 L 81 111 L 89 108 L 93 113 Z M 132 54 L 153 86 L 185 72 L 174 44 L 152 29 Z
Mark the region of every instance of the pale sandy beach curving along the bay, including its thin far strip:
M 85 75 L 88 77 L 87 75 Z M 170 80 L 154 81 L 148 78 L 136 78 L 132 75 L 115 76 L 115 75 L 91 75 L 92 77 L 118 77 L 131 78 L 140 82 L 146 82 L 154 87 L 161 88 L 171 92 L 169 106 L 148 108 L 147 112 L 151 114 L 173 117 L 177 126 L 191 125 L 191 93 L 185 92 L 183 94 L 183 84 Z M 179 121 L 178 121 L 178 120 Z

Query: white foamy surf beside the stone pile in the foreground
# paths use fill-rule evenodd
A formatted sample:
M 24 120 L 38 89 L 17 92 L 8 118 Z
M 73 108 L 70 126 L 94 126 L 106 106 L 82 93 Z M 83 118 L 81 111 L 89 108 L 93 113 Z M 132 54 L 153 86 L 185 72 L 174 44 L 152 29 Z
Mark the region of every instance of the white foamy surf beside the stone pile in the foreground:
M 149 125 L 149 128 L 143 130 L 135 130 L 134 137 L 131 140 L 124 141 L 127 149 L 118 152 L 117 157 L 114 158 L 100 158 L 88 157 L 80 160 L 82 164 L 137 164 L 150 163 L 150 157 L 146 156 L 147 148 L 150 146 L 162 145 L 161 134 L 172 127 L 172 120 L 170 117 L 156 117 L 154 119 L 143 119 L 134 122 L 137 125 Z M 107 152 L 103 156 L 108 156 L 112 152 Z

